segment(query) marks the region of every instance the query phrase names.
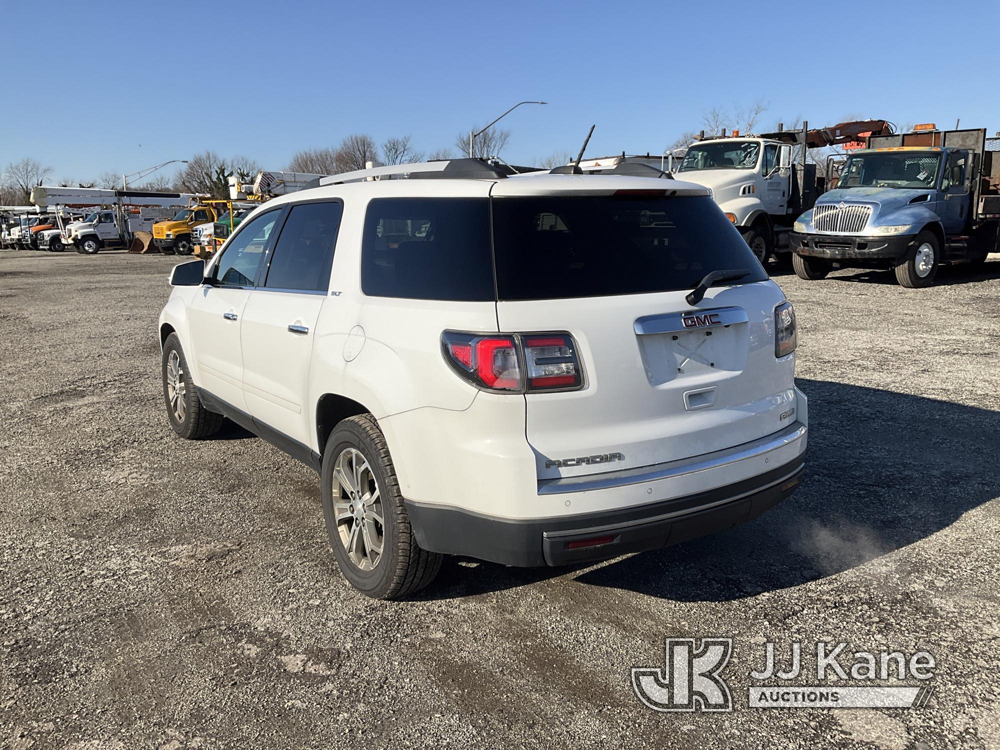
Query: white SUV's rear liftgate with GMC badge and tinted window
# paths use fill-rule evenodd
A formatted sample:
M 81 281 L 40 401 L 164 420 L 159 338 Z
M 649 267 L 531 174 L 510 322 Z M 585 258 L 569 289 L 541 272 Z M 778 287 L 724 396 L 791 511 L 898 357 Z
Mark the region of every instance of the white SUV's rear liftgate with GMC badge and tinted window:
M 794 355 L 774 348 L 784 295 L 706 191 L 590 176 L 631 189 L 524 195 L 531 179 L 493 191 L 499 328 L 569 332 L 585 378 L 582 390 L 525 396 L 540 479 L 688 458 L 787 426 Z M 687 303 L 723 269 L 747 274 Z

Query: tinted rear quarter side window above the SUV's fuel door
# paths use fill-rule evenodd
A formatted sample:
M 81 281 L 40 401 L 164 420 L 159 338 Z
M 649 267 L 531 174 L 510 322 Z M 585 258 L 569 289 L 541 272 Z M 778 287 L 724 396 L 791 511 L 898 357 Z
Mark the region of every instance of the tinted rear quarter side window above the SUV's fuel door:
M 369 202 L 361 289 L 374 297 L 492 302 L 487 198 Z

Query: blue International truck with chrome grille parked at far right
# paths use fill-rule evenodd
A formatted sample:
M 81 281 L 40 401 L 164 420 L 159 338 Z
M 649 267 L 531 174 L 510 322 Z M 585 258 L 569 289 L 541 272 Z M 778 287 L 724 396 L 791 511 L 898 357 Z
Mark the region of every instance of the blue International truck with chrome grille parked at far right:
M 985 262 L 1000 251 L 1000 152 L 985 129 L 873 135 L 832 190 L 789 233 L 799 278 L 834 264 L 893 269 L 900 286 L 929 286 L 942 264 Z

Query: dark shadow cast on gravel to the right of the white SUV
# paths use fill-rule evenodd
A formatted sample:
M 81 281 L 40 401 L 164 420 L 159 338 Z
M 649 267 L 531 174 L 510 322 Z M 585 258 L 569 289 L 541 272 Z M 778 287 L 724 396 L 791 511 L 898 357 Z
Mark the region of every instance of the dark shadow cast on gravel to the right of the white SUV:
M 794 495 L 749 523 L 621 558 L 577 580 L 681 601 L 740 599 L 869 562 L 1000 497 L 997 412 L 798 382 L 811 424 L 806 479 Z

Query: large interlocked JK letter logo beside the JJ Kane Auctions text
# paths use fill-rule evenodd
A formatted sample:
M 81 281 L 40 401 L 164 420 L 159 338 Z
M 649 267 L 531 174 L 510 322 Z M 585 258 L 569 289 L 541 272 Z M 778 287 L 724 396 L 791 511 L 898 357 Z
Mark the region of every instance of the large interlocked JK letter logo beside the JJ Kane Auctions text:
M 663 670 L 632 669 L 632 689 L 654 711 L 732 711 L 733 698 L 720 673 L 729 663 L 732 638 L 667 638 Z

